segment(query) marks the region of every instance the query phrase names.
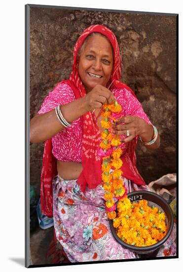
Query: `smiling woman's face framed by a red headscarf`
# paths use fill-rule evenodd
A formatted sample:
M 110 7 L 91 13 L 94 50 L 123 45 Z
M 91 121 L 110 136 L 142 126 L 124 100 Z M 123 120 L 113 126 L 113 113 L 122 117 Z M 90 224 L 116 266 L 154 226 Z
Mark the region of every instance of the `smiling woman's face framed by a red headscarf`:
M 102 36 L 88 38 L 78 63 L 78 72 L 86 92 L 97 84 L 107 87 L 113 67 L 113 50 L 110 42 Z

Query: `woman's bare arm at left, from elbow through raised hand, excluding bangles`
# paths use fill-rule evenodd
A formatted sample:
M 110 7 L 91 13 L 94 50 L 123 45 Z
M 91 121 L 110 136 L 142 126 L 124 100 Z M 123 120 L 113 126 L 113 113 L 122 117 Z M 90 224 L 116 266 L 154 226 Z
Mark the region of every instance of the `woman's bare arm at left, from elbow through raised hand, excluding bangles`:
M 102 85 L 96 85 L 85 96 L 61 106 L 61 111 L 65 119 L 72 123 L 86 112 L 114 101 L 114 95 L 110 90 Z M 43 142 L 64 128 L 56 116 L 55 109 L 44 114 L 37 114 L 30 123 L 30 140 L 31 142 Z

